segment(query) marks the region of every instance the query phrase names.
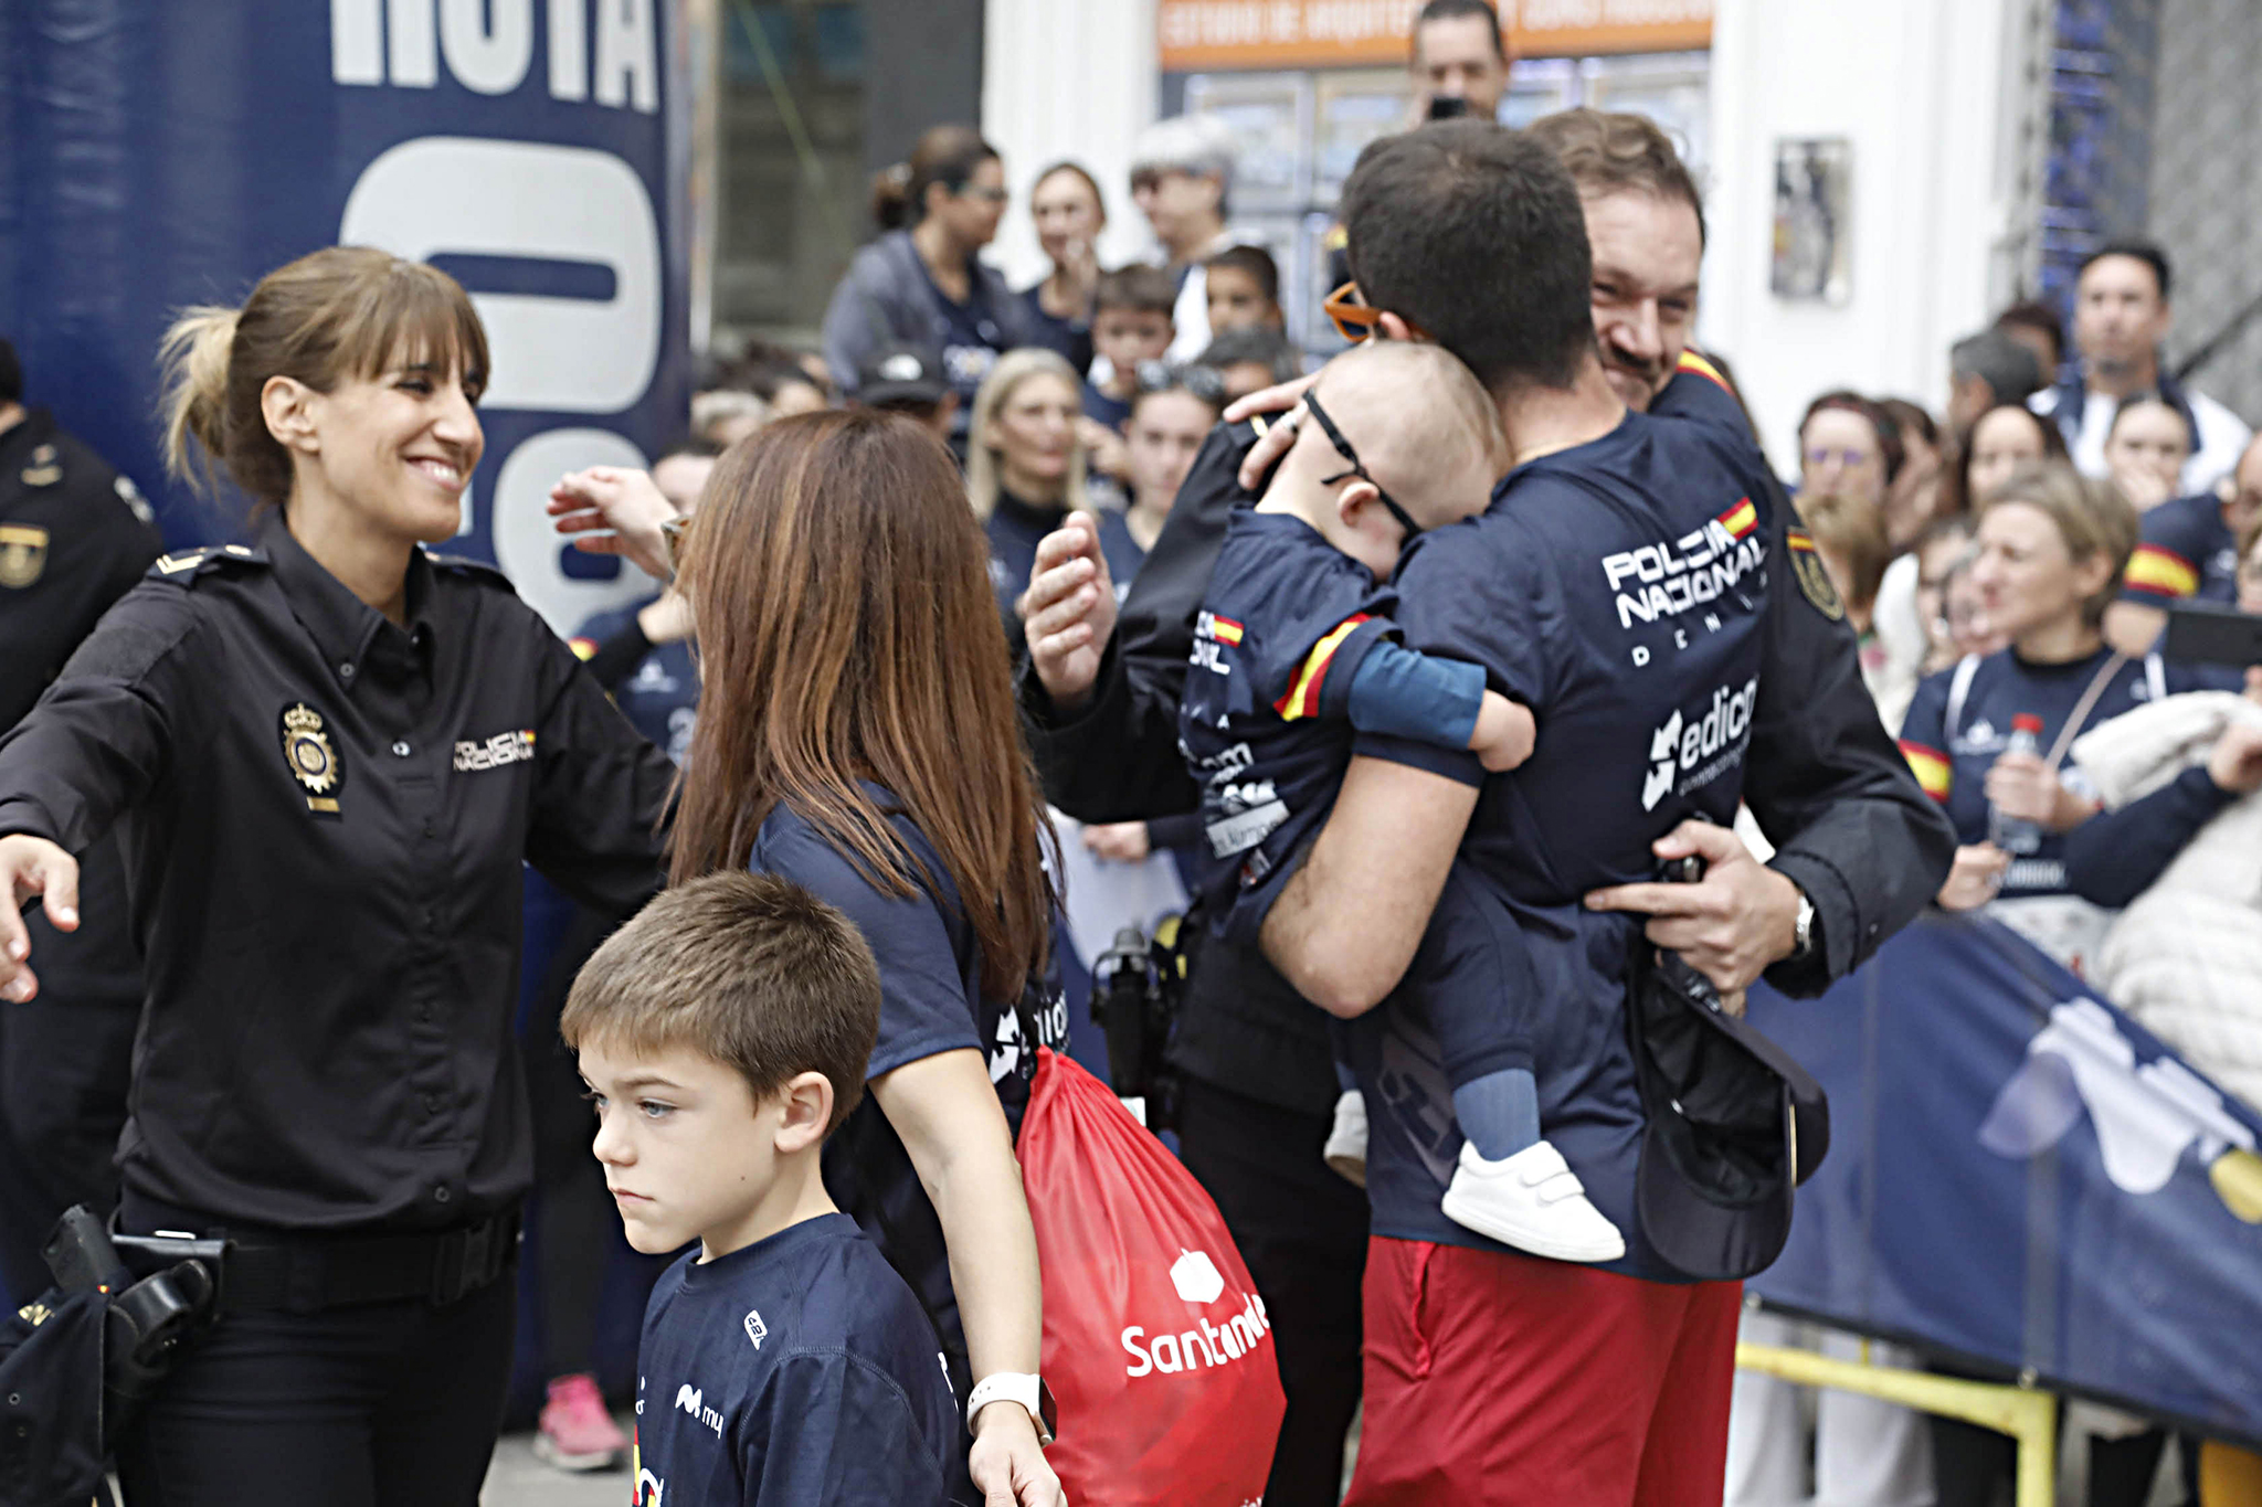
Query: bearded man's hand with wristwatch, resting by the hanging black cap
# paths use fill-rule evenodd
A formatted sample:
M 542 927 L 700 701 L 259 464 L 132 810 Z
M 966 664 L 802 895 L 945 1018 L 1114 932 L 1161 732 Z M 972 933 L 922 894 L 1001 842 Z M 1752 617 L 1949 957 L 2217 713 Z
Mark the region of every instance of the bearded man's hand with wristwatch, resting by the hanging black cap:
M 1728 827 L 1681 822 L 1649 845 L 1663 861 L 1703 859 L 1696 883 L 1622 883 L 1592 890 L 1590 911 L 1635 911 L 1644 933 L 1712 981 L 1721 996 L 1749 987 L 1798 944 L 1798 886 L 1751 856 Z

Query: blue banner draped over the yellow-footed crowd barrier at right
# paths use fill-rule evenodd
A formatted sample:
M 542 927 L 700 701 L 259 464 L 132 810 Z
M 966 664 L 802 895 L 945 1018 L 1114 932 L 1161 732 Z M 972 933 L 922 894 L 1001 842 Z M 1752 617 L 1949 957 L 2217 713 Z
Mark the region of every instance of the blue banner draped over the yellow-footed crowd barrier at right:
M 2262 1441 L 2262 1116 L 1995 922 L 1927 917 L 1751 1019 L 1830 1157 L 1749 1286 L 1846 1329 Z

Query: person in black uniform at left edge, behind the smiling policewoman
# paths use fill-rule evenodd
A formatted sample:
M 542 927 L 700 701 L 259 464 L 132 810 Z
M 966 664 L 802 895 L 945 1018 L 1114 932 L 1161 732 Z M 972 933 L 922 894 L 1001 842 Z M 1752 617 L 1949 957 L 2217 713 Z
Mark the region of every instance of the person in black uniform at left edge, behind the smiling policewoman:
M 16 350 L 0 341 L 0 732 L 165 554 L 133 484 L 20 400 Z M 140 951 L 115 840 L 86 854 L 79 888 L 77 933 L 57 933 L 38 911 L 25 917 L 45 958 L 38 999 L 0 1001 L 0 1286 L 18 1301 L 48 1290 L 38 1249 L 63 1209 L 106 1211 L 118 1188 L 111 1155 L 127 1118 Z

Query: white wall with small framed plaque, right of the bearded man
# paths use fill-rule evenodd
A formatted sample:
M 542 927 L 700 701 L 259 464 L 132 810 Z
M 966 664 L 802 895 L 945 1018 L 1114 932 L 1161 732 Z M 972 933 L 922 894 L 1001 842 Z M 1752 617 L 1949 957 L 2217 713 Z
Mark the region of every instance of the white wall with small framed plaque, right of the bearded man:
M 2004 296 L 2020 43 L 2013 0 L 1719 0 L 1699 341 L 1735 364 L 1778 470 L 1825 389 L 1945 404 L 1948 346 Z M 1853 142 L 1844 307 L 1767 285 L 1776 140 L 1803 136 Z

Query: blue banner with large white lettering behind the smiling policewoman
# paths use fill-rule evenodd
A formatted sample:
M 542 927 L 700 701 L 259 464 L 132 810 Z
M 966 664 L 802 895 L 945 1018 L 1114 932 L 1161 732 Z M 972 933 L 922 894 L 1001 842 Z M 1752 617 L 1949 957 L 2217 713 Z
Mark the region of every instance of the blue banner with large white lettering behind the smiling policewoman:
M 228 538 L 158 463 L 156 343 L 192 303 L 355 242 L 430 260 L 493 343 L 486 459 L 455 549 L 552 626 L 647 594 L 559 549 L 550 484 L 685 425 L 688 102 L 670 0 L 9 0 L 0 5 L 0 334 L 52 407 Z

